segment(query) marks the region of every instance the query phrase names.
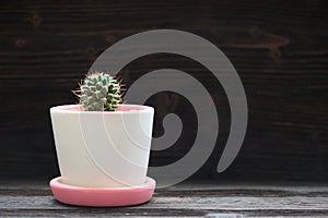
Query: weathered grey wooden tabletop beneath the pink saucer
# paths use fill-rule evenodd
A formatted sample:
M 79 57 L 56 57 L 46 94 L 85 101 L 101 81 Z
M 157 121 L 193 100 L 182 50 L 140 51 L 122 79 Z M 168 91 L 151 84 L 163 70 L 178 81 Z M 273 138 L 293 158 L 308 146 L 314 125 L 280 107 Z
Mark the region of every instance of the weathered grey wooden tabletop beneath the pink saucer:
M 328 217 L 328 185 L 194 182 L 156 190 L 139 206 L 89 208 L 57 202 L 47 183 L 0 183 L 0 217 Z

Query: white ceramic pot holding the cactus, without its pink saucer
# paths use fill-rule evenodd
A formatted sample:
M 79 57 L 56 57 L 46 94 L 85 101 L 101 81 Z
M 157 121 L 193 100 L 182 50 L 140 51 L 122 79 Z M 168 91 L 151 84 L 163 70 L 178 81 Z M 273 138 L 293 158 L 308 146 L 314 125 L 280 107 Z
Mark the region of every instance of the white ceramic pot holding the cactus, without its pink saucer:
M 63 183 L 87 187 L 139 186 L 145 181 L 154 109 L 121 105 L 118 111 L 50 109 Z

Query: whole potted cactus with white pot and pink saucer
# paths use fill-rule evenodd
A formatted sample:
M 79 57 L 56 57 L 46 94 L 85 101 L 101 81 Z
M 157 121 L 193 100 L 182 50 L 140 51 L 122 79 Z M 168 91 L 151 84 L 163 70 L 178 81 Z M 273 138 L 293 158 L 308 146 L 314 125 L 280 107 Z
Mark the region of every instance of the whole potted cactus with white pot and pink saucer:
M 79 104 L 50 108 L 61 177 L 55 197 L 83 206 L 125 206 L 151 198 L 147 177 L 154 109 L 122 104 L 121 84 L 103 72 L 85 76 Z

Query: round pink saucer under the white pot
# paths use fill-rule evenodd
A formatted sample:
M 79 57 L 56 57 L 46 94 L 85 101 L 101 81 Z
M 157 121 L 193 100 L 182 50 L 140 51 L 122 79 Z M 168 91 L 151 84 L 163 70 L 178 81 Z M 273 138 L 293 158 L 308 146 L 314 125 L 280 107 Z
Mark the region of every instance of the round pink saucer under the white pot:
M 145 203 L 152 198 L 155 180 L 147 178 L 142 186 L 82 187 L 61 182 L 60 177 L 50 181 L 57 201 L 70 205 L 91 207 L 118 207 Z

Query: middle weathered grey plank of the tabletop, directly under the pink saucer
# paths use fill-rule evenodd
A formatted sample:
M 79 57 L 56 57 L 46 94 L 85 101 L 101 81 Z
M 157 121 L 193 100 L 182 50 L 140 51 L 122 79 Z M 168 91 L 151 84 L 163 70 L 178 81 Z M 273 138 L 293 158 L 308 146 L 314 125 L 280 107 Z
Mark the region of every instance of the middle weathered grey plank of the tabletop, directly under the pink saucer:
M 183 193 L 179 193 L 180 195 Z M 0 209 L 77 209 L 54 202 L 52 196 L 1 196 Z M 214 197 L 214 196 L 165 196 L 160 194 L 138 208 L 148 209 L 198 209 L 198 210 L 318 210 L 328 213 L 326 197 Z

